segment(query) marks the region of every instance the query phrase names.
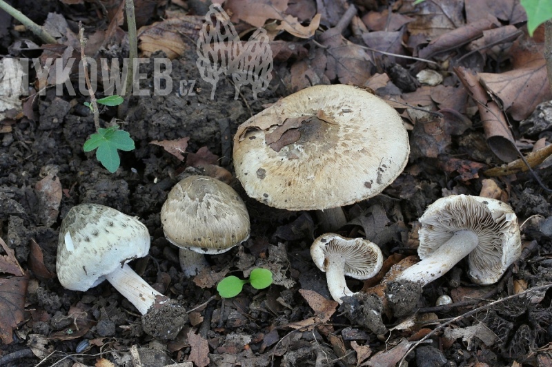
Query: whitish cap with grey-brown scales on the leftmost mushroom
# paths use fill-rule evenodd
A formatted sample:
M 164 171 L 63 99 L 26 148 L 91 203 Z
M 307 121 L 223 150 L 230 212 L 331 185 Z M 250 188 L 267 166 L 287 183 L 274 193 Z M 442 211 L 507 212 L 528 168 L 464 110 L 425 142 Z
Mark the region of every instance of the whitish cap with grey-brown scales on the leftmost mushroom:
M 76 205 L 59 229 L 57 277 L 66 289 L 88 291 L 148 251 L 150 233 L 137 217 L 99 204 Z

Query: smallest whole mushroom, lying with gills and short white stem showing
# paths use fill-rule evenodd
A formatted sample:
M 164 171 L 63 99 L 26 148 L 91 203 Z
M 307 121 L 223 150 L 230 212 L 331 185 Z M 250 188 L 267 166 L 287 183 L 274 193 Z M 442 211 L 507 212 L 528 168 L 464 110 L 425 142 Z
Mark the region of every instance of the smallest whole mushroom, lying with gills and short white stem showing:
M 311 257 L 318 269 L 326 273 L 328 289 L 339 304 L 342 297 L 353 293 L 348 289 L 345 275 L 366 280 L 377 274 L 383 265 L 380 247 L 363 238 L 345 238 L 324 233 L 313 242 Z

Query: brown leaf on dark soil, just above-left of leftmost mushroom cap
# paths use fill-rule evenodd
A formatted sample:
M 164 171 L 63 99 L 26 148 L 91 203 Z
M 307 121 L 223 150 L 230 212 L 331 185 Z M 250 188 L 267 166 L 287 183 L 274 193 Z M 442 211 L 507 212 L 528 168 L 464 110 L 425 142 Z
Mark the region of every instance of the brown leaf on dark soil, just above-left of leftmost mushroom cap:
M 48 174 L 34 185 L 34 191 L 37 192 L 39 199 L 39 218 L 46 227 L 50 227 L 56 222 L 59 214 L 61 182 L 57 176 Z

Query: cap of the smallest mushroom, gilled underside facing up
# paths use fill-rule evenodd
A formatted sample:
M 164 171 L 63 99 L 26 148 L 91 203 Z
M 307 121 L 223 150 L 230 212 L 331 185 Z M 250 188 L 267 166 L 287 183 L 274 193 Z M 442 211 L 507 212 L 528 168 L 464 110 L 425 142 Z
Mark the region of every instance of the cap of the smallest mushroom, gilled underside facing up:
M 384 257 L 377 244 L 364 238 L 346 238 L 335 233 L 324 233 L 311 246 L 315 265 L 326 273 L 332 257 L 344 260 L 344 274 L 366 280 L 382 269 Z

